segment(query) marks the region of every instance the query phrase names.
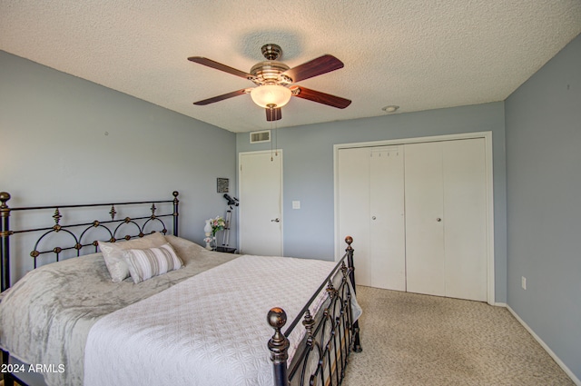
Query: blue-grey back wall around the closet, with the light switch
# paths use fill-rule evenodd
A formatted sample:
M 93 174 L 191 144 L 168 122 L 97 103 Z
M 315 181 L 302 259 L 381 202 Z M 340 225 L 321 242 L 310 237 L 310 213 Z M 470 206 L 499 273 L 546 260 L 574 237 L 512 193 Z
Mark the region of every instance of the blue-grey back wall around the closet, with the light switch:
M 490 131 L 494 152 L 496 301 L 506 302 L 504 128 L 504 104 L 498 102 L 277 129 L 277 144 L 284 157 L 284 254 L 328 260 L 334 257 L 334 144 Z M 270 148 L 271 144 L 250 144 L 248 133 L 237 135 L 239 153 Z M 300 210 L 292 210 L 294 200 L 300 201 Z M 357 248 L 357 241 L 353 246 Z

